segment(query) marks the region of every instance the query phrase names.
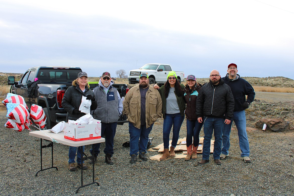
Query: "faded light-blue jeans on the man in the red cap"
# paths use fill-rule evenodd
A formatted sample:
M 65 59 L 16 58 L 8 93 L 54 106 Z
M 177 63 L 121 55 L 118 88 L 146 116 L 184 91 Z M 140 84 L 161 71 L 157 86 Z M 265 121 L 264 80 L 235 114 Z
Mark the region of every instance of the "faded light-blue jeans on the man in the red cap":
M 229 148 L 230 148 L 230 133 L 232 128 L 233 120 L 235 122 L 235 125 L 238 130 L 238 136 L 239 136 L 239 146 L 241 149 L 241 157 L 249 157 L 249 142 L 246 132 L 246 116 L 245 111 L 238 111 L 234 112 L 233 119 L 231 120 L 231 123 L 229 125 L 225 125 L 223 130 L 223 148 L 221 150 L 221 153 L 224 155 L 229 154 Z

